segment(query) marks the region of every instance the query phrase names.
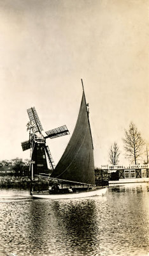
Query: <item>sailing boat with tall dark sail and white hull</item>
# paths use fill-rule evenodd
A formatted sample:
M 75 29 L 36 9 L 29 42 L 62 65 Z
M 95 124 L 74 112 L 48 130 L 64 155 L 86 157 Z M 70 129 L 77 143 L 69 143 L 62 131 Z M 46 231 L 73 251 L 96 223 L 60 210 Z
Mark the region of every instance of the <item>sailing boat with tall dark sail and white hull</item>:
M 83 81 L 82 81 L 83 87 Z M 32 193 L 34 198 L 66 199 L 103 195 L 107 188 L 96 188 L 94 178 L 93 141 L 89 122 L 89 104 L 83 89 L 82 102 L 71 139 L 49 179 L 47 193 Z

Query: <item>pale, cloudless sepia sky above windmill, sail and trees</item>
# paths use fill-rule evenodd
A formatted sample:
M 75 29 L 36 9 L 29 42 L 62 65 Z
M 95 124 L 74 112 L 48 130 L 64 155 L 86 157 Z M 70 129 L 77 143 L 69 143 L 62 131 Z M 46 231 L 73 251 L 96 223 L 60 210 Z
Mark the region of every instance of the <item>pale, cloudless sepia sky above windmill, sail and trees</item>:
M 29 158 L 27 109 L 44 131 L 67 125 L 70 135 L 46 140 L 55 163 L 70 139 L 82 99 L 90 109 L 95 166 L 108 164 L 134 122 L 149 143 L 148 1 L 0 0 L 0 160 Z

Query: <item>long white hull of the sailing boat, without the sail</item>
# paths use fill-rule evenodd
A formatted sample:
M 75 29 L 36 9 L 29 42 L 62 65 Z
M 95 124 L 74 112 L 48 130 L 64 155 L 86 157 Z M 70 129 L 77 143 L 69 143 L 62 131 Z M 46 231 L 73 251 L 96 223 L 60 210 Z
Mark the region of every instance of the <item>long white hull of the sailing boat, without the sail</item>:
M 50 194 L 39 194 L 39 193 L 32 193 L 33 198 L 41 198 L 41 199 L 73 199 L 73 198 L 85 198 L 90 196 L 102 196 L 106 193 L 107 188 L 100 188 L 94 189 L 92 191 L 82 191 L 76 193 L 66 193 L 66 194 L 57 194 L 57 195 L 50 195 Z

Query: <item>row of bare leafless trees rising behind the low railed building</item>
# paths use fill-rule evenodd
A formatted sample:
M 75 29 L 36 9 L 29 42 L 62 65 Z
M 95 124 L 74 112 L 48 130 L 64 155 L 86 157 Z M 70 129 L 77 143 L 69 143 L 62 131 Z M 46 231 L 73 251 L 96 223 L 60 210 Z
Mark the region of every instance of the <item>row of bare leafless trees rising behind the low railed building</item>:
M 141 133 L 134 123 L 131 122 L 129 129 L 125 129 L 124 138 L 122 138 L 124 143 L 125 157 L 129 159 L 131 163 L 137 164 L 140 161 L 141 156 L 144 153 L 143 146 L 145 141 L 141 137 Z M 119 162 L 120 149 L 116 141 L 111 144 L 109 148 L 109 162 L 113 165 L 117 165 Z M 148 164 L 148 149 L 146 146 L 146 160 L 144 164 Z

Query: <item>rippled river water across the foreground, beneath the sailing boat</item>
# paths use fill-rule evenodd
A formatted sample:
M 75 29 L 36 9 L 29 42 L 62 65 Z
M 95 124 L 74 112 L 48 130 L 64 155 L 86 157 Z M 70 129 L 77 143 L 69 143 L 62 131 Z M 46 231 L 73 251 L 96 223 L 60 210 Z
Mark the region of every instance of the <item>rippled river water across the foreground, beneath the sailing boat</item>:
M 148 255 L 148 184 L 78 200 L 21 200 L 0 190 L 1 256 Z

